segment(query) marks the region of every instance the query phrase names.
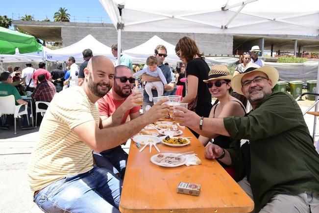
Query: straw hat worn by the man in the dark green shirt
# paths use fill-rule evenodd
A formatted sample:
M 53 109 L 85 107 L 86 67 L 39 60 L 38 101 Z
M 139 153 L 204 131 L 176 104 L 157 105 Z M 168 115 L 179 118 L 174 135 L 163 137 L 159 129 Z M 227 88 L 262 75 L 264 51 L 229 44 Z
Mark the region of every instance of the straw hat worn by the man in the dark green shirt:
M 248 65 L 248 64 L 247 64 Z M 258 66 L 258 65 L 257 65 Z M 234 76 L 234 78 L 231 80 L 230 84 L 233 90 L 235 90 L 237 93 L 244 95 L 242 92 L 242 78 L 247 74 L 255 71 L 260 71 L 265 73 L 269 80 L 271 80 L 272 83 L 272 88 L 276 85 L 278 79 L 279 79 L 279 73 L 278 70 L 274 67 L 271 66 L 263 66 L 263 67 L 258 67 L 256 66 L 253 67 L 248 67 L 246 66 L 246 69 L 243 74 L 239 74 Z

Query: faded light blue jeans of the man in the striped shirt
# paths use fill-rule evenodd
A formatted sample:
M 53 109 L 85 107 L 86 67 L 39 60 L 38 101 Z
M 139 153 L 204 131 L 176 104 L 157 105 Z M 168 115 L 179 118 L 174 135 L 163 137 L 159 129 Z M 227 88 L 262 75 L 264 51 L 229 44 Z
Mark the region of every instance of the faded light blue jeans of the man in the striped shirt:
M 122 184 L 115 174 L 95 166 L 41 189 L 34 202 L 47 213 L 119 213 Z

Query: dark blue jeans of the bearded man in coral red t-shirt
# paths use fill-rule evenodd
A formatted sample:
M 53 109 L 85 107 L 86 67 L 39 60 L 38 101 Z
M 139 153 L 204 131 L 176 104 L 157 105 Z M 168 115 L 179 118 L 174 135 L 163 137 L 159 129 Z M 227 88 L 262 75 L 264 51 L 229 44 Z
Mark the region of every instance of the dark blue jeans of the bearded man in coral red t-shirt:
M 93 152 L 93 158 L 98 167 L 120 173 L 120 178 L 124 178 L 128 155 L 121 146 L 100 153 Z

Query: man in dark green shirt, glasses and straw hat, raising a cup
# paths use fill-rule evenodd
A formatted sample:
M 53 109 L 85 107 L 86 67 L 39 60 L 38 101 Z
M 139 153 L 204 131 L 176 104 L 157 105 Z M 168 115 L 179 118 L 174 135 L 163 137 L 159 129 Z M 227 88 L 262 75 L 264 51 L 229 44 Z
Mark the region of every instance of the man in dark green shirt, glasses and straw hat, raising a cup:
M 203 136 L 234 139 L 229 149 L 209 144 L 205 157 L 235 167 L 255 212 L 319 212 L 319 155 L 301 109 L 288 93 L 272 91 L 279 76 L 274 67 L 249 69 L 231 80 L 253 108 L 244 117 L 201 118 L 178 106 L 184 113 L 173 117 Z

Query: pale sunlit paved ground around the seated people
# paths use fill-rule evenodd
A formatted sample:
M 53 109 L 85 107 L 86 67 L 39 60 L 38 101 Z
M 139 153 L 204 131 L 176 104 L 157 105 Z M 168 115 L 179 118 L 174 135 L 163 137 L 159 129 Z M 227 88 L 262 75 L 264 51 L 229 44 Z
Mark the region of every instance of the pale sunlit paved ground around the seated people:
M 298 101 L 304 111 L 313 101 Z M 310 133 L 314 118 L 305 115 Z M 317 125 L 319 126 L 319 125 Z M 319 128 L 317 127 L 317 133 Z M 0 130 L 0 213 L 41 213 L 32 202 L 26 180 L 26 165 L 37 140 L 38 128 L 13 134 L 13 130 Z M 318 140 L 316 136 L 315 140 Z M 125 145 L 128 151 L 129 143 Z

